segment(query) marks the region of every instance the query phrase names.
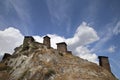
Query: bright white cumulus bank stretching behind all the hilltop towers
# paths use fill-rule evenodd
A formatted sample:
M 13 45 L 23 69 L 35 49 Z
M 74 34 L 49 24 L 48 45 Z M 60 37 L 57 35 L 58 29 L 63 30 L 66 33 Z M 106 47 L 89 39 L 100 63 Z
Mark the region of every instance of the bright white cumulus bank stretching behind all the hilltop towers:
M 97 32 L 86 22 L 83 22 L 71 38 L 64 38 L 56 34 L 47 34 L 51 38 L 51 46 L 56 48 L 56 43 L 66 42 L 68 50 L 76 56 L 97 63 L 97 55 L 88 49 L 88 45 L 99 40 Z M 1 55 L 5 52 L 12 53 L 13 49 L 22 44 L 24 36 L 18 29 L 13 27 L 0 31 L 0 51 Z M 33 36 L 37 42 L 42 43 L 44 36 Z

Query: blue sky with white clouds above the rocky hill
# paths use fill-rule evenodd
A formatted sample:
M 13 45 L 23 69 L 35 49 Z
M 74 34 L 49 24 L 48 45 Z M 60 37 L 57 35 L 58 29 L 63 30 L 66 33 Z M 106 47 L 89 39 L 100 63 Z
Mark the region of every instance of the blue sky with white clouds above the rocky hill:
M 120 0 L 0 0 L 0 57 L 12 54 L 24 36 L 52 47 L 66 42 L 74 55 L 98 64 L 108 56 L 120 78 Z

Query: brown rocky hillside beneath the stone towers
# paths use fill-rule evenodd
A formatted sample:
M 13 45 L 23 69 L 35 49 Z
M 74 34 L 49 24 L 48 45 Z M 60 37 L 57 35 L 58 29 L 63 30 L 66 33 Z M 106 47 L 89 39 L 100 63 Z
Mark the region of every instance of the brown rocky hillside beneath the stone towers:
M 0 63 L 0 80 L 116 80 L 95 63 L 28 41 Z

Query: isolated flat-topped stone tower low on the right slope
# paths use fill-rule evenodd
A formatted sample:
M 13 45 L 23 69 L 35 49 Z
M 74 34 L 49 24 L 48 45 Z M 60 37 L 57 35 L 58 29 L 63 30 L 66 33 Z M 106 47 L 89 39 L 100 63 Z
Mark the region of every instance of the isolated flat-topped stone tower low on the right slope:
M 98 58 L 99 58 L 99 65 L 105 68 L 106 70 L 108 70 L 109 72 L 111 72 L 108 57 L 98 56 Z

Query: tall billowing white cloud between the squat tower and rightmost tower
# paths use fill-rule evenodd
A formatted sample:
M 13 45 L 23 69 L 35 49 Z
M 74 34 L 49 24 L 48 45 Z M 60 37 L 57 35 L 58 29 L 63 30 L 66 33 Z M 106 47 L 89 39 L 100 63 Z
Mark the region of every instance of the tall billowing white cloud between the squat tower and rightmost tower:
M 99 40 L 97 32 L 86 22 L 83 22 L 76 30 L 72 38 L 66 40 L 68 48 L 81 58 L 97 63 L 97 55 L 92 53 L 86 45 Z

